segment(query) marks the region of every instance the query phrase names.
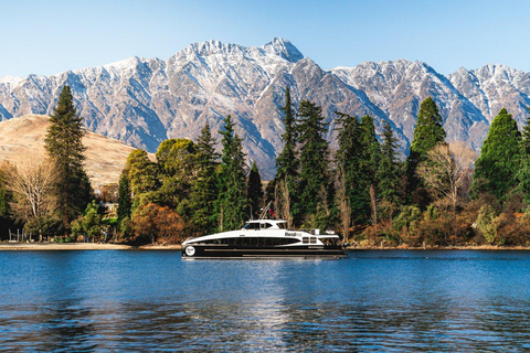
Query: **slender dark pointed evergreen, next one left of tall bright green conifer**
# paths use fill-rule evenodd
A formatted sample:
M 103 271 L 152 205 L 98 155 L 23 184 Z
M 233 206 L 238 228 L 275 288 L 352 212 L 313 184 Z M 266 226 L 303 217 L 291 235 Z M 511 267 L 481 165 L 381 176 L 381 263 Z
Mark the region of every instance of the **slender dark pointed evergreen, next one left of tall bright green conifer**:
M 398 139 L 389 122 L 384 122 L 379 163 L 379 196 L 393 204 L 401 202 L 401 168 L 398 160 Z

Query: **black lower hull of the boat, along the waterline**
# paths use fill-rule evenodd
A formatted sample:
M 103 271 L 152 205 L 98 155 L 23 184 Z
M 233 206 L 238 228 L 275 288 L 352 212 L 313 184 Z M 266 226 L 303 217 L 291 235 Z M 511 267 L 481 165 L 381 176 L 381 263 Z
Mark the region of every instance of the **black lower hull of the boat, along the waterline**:
M 243 258 L 321 258 L 339 259 L 347 257 L 340 247 L 237 247 L 189 245 L 182 248 L 182 259 L 243 259 Z

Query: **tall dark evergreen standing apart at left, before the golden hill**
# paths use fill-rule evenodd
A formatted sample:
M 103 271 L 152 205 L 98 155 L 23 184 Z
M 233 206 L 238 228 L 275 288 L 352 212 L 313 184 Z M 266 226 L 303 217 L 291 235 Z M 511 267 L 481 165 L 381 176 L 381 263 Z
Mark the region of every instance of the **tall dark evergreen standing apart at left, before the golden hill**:
M 57 197 L 63 226 L 82 214 L 89 202 L 92 188 L 83 168 L 85 147 L 82 118 L 74 107 L 72 90 L 64 86 L 50 118 L 44 139 L 45 149 L 57 170 L 55 194 Z

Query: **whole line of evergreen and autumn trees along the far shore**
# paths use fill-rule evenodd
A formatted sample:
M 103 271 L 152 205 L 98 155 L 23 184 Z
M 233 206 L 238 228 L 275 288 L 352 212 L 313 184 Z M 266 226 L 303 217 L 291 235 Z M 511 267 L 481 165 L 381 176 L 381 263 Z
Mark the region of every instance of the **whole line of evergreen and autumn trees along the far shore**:
M 477 159 L 465 143 L 446 141 L 431 97 L 421 104 L 406 158 L 388 121 L 378 136 L 371 116 L 336 111 L 331 150 L 321 107 L 309 100 L 295 106 L 287 87 L 280 109 L 284 147 L 273 180 L 262 182 L 256 163 L 247 164 L 229 115 L 220 152 L 208 122 L 197 141 L 161 142 L 153 160 L 132 151 L 119 180 L 117 220 L 105 224 L 92 202 L 81 118 L 65 86 L 46 158 L 33 169 L 2 167 L 0 216 L 35 234 L 103 237 L 107 226 L 127 243 L 178 243 L 241 227 L 269 204 L 268 216 L 289 227 L 335 229 L 359 246 L 528 245 L 530 113 L 521 133 L 500 110 Z M 39 196 L 29 192 L 36 184 Z

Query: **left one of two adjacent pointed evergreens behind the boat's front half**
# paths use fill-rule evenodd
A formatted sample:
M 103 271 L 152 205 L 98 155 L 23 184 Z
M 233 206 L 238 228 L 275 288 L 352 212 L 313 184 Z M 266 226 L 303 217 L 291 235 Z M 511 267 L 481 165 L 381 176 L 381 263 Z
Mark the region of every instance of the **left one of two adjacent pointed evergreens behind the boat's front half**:
M 219 153 L 215 152 L 215 140 L 210 125 L 206 122 L 197 140 L 197 178 L 192 185 L 190 203 L 192 222 L 201 234 L 213 233 L 219 214 L 215 213 L 218 184 L 215 170 Z

